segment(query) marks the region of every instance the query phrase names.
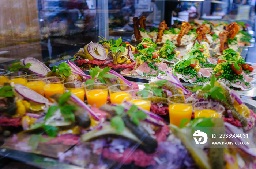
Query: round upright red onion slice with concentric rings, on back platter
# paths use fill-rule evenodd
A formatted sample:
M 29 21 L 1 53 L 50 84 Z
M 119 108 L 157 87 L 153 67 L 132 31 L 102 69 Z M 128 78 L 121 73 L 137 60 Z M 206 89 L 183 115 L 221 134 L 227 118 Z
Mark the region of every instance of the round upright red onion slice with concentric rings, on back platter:
M 97 49 L 99 55 L 95 53 L 95 49 Z M 99 43 L 90 43 L 87 51 L 95 60 L 106 60 L 108 57 L 106 50 Z

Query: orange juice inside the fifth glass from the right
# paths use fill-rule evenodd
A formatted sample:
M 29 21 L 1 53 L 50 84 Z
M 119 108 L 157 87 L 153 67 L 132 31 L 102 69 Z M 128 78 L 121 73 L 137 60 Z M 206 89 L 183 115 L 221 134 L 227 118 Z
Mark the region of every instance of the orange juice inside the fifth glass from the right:
M 96 105 L 99 108 L 102 105 L 105 105 L 108 98 L 107 90 L 94 89 L 86 92 L 86 98 L 89 105 Z

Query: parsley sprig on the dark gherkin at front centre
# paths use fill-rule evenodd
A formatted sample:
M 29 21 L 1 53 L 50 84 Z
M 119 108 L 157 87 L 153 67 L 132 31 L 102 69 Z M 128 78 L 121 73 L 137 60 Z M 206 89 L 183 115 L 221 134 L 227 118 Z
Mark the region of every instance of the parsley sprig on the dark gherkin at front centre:
M 129 115 L 137 126 L 139 126 L 139 120 L 144 120 L 147 117 L 144 111 L 138 110 L 138 107 L 132 105 L 131 108 L 125 112 L 124 107 L 122 105 L 113 106 L 113 109 L 116 111 L 116 116 L 114 116 L 111 120 L 111 127 L 115 127 L 117 133 L 121 133 L 124 130 L 125 124 L 122 119 L 124 115 Z

